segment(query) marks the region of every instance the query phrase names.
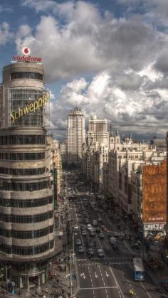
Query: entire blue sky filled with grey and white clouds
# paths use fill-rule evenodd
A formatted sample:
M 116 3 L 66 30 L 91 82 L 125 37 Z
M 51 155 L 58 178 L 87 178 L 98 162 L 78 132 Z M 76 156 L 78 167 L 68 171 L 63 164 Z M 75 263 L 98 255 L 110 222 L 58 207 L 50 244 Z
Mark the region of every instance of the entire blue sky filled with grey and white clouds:
M 43 58 L 54 137 L 75 105 L 86 124 L 96 114 L 122 134 L 165 137 L 167 0 L 0 0 L 0 68 L 23 46 Z

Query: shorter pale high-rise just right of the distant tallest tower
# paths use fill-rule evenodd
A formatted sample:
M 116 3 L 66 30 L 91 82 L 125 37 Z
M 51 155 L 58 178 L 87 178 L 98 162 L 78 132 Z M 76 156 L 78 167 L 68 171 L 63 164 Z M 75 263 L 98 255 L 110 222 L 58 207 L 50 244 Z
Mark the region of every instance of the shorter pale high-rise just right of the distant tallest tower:
M 103 143 L 109 145 L 109 132 L 107 132 L 107 119 L 97 119 L 94 115 L 89 120 L 88 146 L 90 143 Z

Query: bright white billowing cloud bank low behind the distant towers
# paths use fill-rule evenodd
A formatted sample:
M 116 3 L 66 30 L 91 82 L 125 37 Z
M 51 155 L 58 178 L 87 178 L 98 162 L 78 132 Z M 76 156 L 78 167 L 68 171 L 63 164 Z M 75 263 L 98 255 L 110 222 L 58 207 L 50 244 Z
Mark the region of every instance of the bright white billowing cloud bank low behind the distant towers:
M 141 78 L 141 77 L 140 77 Z M 78 81 L 78 83 L 77 83 Z M 76 88 L 83 78 L 63 86 L 56 105 L 52 107 L 52 125 L 56 129 L 65 129 L 68 112 L 77 104 L 83 110 L 86 124 L 93 112 L 101 118 L 107 118 L 115 129 L 134 135 L 164 134 L 167 131 L 168 94 L 164 90 L 122 90 L 115 78 L 109 73 L 99 73 L 85 84 L 85 88 Z M 105 92 L 97 92 L 99 85 Z M 143 84 L 143 80 L 141 81 Z M 57 132 L 57 131 L 56 131 Z M 62 132 L 65 137 L 65 132 Z

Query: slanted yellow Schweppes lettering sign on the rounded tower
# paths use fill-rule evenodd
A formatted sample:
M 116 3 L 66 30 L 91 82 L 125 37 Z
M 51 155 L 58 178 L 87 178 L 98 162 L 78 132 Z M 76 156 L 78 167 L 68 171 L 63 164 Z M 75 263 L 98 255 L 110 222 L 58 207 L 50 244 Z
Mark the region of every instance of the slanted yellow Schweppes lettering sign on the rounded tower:
M 25 107 L 19 107 L 18 110 L 11 111 L 11 124 L 14 123 L 17 119 L 28 115 L 29 113 L 37 112 L 43 105 L 45 105 L 50 99 L 50 93 L 45 92 L 38 100 L 29 103 Z

